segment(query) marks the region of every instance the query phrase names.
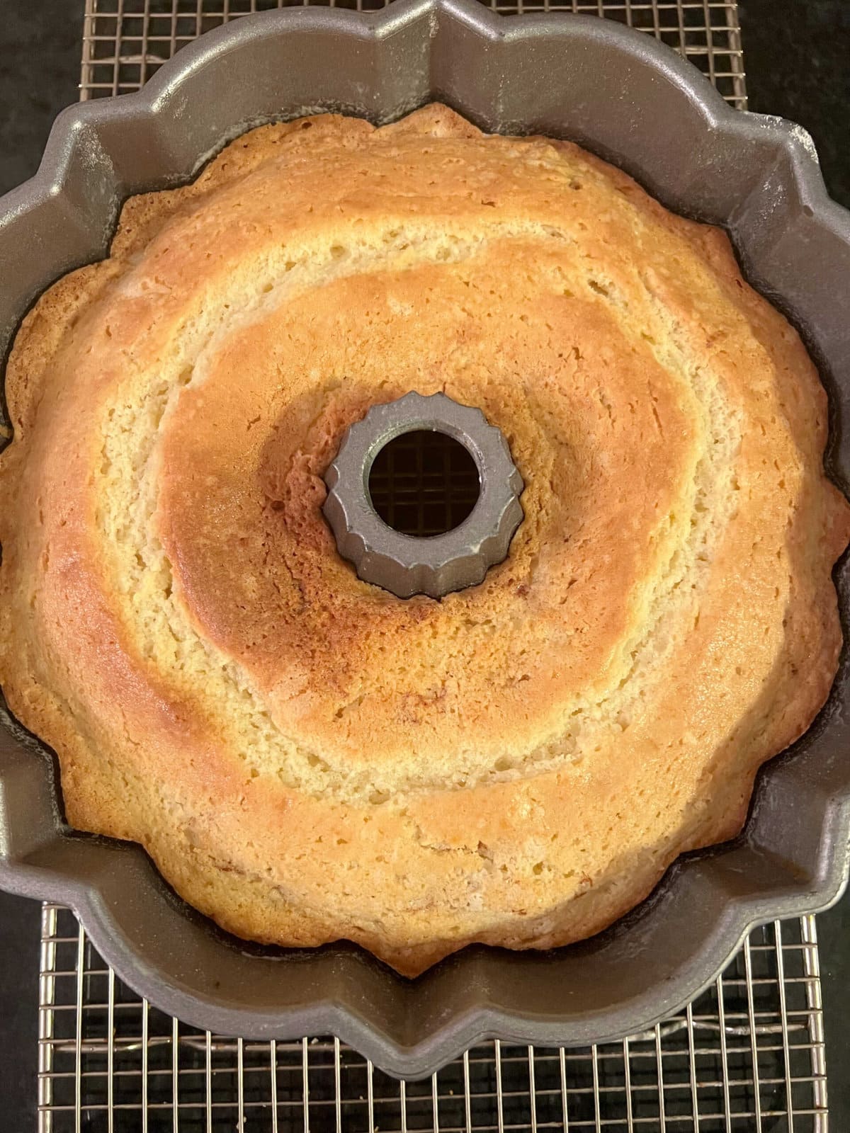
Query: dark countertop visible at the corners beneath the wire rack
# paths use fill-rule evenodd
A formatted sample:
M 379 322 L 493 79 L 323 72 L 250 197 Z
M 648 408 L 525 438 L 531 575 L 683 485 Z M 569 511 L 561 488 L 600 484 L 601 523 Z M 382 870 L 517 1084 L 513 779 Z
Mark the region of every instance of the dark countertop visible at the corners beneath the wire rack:
M 50 123 L 76 101 L 83 0 L 0 0 L 0 191 L 31 176 Z M 850 207 L 850 2 L 740 0 L 750 109 L 815 139 L 830 191 Z M 0 1126 L 35 1130 L 40 906 L 0 894 Z M 830 1111 L 850 1128 L 850 895 L 817 920 Z

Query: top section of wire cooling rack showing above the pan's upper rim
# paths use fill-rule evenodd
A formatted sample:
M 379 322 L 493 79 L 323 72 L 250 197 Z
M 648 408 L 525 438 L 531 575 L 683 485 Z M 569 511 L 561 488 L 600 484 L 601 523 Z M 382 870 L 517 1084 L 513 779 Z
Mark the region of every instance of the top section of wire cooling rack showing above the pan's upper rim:
M 311 0 L 86 0 L 80 97 L 137 91 L 181 46 L 248 12 Z M 316 0 L 313 0 L 316 2 Z M 317 0 L 357 11 L 389 0 Z M 747 109 L 737 0 L 485 0 L 505 15 L 590 12 L 638 27 L 696 63 L 721 94 Z

